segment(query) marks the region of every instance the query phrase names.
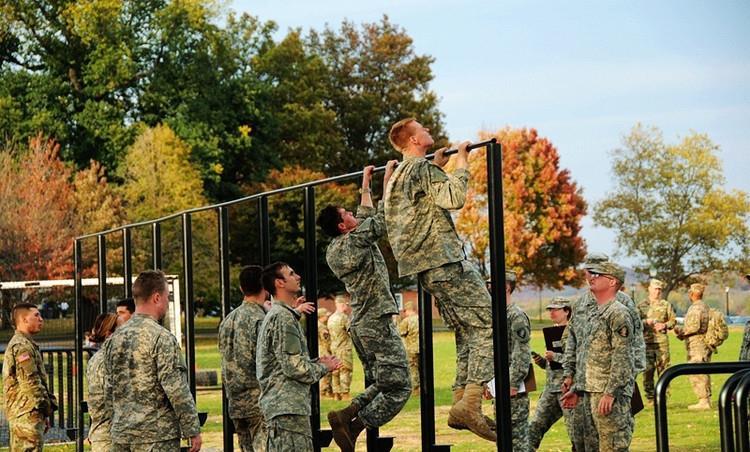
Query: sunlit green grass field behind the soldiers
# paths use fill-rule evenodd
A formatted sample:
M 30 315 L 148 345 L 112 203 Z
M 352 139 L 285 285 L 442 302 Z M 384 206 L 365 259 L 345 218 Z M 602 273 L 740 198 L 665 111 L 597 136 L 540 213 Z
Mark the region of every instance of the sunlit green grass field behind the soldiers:
M 722 345 L 719 354 L 714 355 L 713 361 L 734 361 L 739 355 L 742 340 L 742 328 L 730 328 L 729 339 Z M 543 338 L 541 331 L 532 333 L 532 349 L 541 352 L 543 350 Z M 451 384 L 455 370 L 455 347 L 453 336 L 450 332 L 438 332 L 434 335 L 435 347 L 435 413 L 437 443 L 450 444 L 453 451 L 491 451 L 494 445 L 471 433 L 459 432 L 450 429 L 446 422 L 448 410 L 451 403 Z M 685 362 L 686 352 L 684 344 L 671 336 L 672 364 Z M 196 350 L 197 365 L 199 369 L 219 369 L 220 357 L 214 339 L 202 339 Z M 544 371 L 535 369 L 537 382 L 540 383 L 538 392 L 531 395 L 531 413 L 533 415 L 536 400 L 541 394 L 544 386 Z M 714 376 L 712 388 L 714 392 L 713 401 L 716 406 L 716 398 L 726 380 L 726 375 Z M 639 378 L 640 380 L 640 378 Z M 640 384 L 640 381 L 639 381 Z M 362 368 L 355 356 L 355 369 L 352 388 L 363 387 Z M 641 384 L 641 388 L 642 388 Z M 353 393 L 357 393 L 353 389 Z M 220 450 L 222 444 L 222 422 L 221 422 L 221 392 L 217 389 L 202 389 L 198 391 L 198 409 L 209 413 L 208 421 L 203 429 L 204 444 L 207 449 Z M 711 411 L 693 412 L 686 409 L 687 405 L 695 403 L 687 377 L 677 378 L 671 386 L 669 399 L 669 431 L 670 450 L 672 451 L 717 451 L 720 449 L 719 439 L 719 417 L 716 409 Z M 347 402 L 332 400 L 322 401 L 322 415 L 324 426 L 327 424 L 326 415 L 332 409 L 346 406 Z M 485 402 L 485 412 L 491 413 L 492 406 Z M 390 423 L 381 429 L 381 435 L 393 436 L 395 438 L 394 451 L 416 451 L 420 449 L 420 416 L 419 398 L 412 397 L 403 411 Z M 364 435 L 358 443 L 357 450 L 365 450 Z M 72 450 L 66 446 L 50 448 L 50 450 Z M 329 448 L 327 450 L 337 450 Z M 566 451 L 570 450 L 567 433 L 562 421 L 559 421 L 545 436 L 540 450 L 543 451 Z M 654 412 L 647 408 L 636 416 L 635 434 L 633 437 L 633 451 L 656 450 Z

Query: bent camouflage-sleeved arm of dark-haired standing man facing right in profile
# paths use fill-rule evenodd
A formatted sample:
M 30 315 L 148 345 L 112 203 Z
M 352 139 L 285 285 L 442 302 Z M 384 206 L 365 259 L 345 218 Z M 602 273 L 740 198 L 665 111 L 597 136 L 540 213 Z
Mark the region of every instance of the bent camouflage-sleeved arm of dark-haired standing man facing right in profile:
M 274 331 L 274 336 L 276 336 L 274 342 L 279 344 L 274 353 L 284 375 L 308 385 L 323 378 L 328 373 L 328 369 L 321 363 L 313 362 L 304 354 L 299 327 L 284 323 L 279 326 L 280 328 Z

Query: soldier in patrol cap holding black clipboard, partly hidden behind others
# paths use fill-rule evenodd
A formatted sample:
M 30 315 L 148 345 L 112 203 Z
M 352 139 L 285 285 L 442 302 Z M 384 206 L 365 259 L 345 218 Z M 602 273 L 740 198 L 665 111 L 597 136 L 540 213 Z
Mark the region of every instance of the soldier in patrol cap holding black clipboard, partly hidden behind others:
M 552 302 L 547 305 L 547 312 L 555 325 L 567 327 L 571 315 L 570 299 L 566 297 L 554 297 Z M 565 417 L 565 425 L 568 426 L 568 429 L 573 427 L 571 422 L 572 410 L 563 408 L 560 401 L 563 381 L 562 367 L 559 369 L 552 368 L 552 363 L 558 363 L 562 366 L 567 339 L 568 330 L 565 328 L 560 339 L 563 347 L 561 353 L 547 350 L 543 357 L 541 355 L 534 355 L 534 362 L 544 369 L 547 375 L 547 382 L 544 386 L 544 392 L 542 392 L 539 402 L 536 405 L 534 418 L 529 423 L 529 447 L 533 450 L 539 449 L 544 434 L 561 417 Z

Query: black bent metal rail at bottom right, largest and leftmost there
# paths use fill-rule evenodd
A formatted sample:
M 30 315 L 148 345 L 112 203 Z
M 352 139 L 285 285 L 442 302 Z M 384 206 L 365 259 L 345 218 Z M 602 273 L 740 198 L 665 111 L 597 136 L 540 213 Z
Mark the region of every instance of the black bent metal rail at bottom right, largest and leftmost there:
M 667 422 L 667 388 L 676 377 L 680 375 L 700 374 L 731 374 L 740 370 L 750 369 L 750 361 L 729 363 L 685 363 L 676 364 L 667 368 L 659 381 L 656 382 L 654 397 L 654 416 L 656 428 L 656 450 L 658 452 L 669 451 L 669 424 Z

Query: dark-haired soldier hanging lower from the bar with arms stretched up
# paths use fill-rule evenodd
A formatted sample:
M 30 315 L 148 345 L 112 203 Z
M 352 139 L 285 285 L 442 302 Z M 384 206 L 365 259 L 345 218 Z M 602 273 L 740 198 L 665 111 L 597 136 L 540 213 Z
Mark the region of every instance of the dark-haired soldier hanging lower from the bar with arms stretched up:
M 384 185 L 388 183 L 395 163 L 392 160 L 386 165 Z M 337 206 L 326 207 L 318 216 L 318 224 L 333 237 L 326 251 L 328 266 L 351 293 L 349 331 L 364 367 L 367 386 L 351 405 L 328 413 L 333 437 L 342 451 L 354 451 L 357 436 L 364 428 L 378 428 L 393 419 L 406 404 L 411 389 L 406 351 L 393 321 L 398 306 L 391 294 L 385 260 L 377 246 L 378 240 L 385 235 L 385 220 L 382 202 L 377 210 L 372 203 L 370 182 L 373 170 L 373 166 L 367 166 L 363 171 L 356 217 Z M 337 304 L 337 311 L 340 306 L 349 307 Z M 342 315 L 339 322 L 342 325 L 343 314 L 335 315 Z M 334 320 L 332 316 L 329 326 Z M 336 336 L 346 339 L 343 331 L 337 333 L 332 328 L 334 343 Z M 337 348 L 334 344 L 334 353 L 337 353 Z

